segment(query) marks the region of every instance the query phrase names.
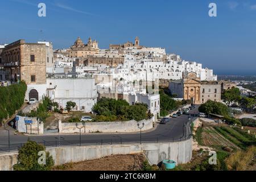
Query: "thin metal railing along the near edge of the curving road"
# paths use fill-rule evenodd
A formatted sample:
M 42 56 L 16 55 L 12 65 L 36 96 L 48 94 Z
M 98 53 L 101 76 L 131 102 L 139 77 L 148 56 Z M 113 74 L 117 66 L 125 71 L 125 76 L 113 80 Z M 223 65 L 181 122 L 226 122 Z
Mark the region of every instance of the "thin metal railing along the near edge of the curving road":
M 180 142 L 184 140 L 191 139 L 192 122 L 195 121 L 195 117 L 192 117 L 188 122 L 183 125 L 183 135 L 179 138 L 170 138 L 164 135 L 156 135 L 156 137 L 143 138 L 140 139 L 139 135 L 137 139 L 129 139 L 129 137 L 122 137 L 119 135 L 113 135 L 109 139 L 93 139 L 93 140 L 65 140 L 63 137 L 56 136 L 56 140 L 43 140 L 42 142 L 37 142 L 43 144 L 45 147 L 64 147 L 64 146 L 92 146 L 92 145 L 108 145 L 108 144 L 129 144 L 129 143 L 165 143 L 165 142 Z M 0 144 L 0 153 L 1 152 L 15 152 L 18 151 L 25 143 L 11 143 L 9 144 Z

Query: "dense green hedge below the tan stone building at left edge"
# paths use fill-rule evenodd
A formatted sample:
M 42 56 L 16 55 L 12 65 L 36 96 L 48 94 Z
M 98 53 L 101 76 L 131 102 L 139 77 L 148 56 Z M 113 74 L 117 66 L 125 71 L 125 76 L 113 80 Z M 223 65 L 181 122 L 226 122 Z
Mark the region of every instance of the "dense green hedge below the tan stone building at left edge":
M 24 97 L 27 91 L 25 82 L 10 86 L 0 86 L 0 125 L 3 119 L 15 114 L 24 104 Z

